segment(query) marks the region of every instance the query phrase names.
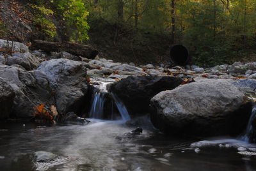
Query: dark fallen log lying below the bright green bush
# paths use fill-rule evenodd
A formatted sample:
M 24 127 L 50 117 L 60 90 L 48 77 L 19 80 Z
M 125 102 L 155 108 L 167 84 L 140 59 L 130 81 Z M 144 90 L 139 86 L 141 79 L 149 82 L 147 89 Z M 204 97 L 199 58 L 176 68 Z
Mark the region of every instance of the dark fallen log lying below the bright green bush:
M 99 54 L 98 50 L 89 45 L 82 45 L 70 41 L 58 43 L 44 40 L 33 40 L 31 48 L 45 50 L 46 52 L 65 51 L 74 56 L 87 57 L 88 59 L 94 59 L 97 54 Z

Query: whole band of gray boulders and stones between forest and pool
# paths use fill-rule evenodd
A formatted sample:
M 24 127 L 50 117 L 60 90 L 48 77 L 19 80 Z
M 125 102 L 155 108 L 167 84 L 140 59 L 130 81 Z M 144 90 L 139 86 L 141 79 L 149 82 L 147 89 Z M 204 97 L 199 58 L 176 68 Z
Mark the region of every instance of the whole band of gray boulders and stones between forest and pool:
M 0 47 L 8 48 L 1 40 Z M 31 117 L 36 105 L 79 114 L 93 82 L 113 82 L 108 89 L 132 116 L 150 113 L 159 130 L 170 134 L 237 135 L 246 127 L 256 89 L 256 62 L 212 68 L 136 66 L 67 52 L 29 52 L 14 43 L 14 53 L 0 54 L 0 118 Z M 88 103 L 88 102 L 87 102 Z

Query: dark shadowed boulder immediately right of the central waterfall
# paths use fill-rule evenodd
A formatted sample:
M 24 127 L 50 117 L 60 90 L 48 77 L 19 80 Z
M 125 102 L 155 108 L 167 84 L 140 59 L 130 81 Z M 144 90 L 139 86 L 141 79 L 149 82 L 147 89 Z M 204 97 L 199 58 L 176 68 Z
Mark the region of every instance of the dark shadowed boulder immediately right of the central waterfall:
M 181 78 L 172 76 L 130 76 L 112 84 L 110 91 L 124 101 L 132 115 L 145 114 L 153 96 L 181 83 Z

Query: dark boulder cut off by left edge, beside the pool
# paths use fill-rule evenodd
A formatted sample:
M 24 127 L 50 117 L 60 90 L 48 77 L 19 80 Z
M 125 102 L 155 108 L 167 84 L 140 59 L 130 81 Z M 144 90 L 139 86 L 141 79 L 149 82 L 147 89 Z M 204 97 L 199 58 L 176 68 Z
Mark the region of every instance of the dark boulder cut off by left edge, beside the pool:
M 0 119 L 7 118 L 12 112 L 15 93 L 12 87 L 0 78 Z

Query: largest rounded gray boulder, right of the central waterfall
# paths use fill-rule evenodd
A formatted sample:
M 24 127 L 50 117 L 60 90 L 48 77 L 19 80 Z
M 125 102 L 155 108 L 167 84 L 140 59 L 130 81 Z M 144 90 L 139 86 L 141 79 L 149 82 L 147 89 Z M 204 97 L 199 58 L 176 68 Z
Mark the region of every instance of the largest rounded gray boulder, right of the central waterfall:
M 237 135 L 252 112 L 245 94 L 221 79 L 202 79 L 163 91 L 152 98 L 150 105 L 154 126 L 179 135 Z

